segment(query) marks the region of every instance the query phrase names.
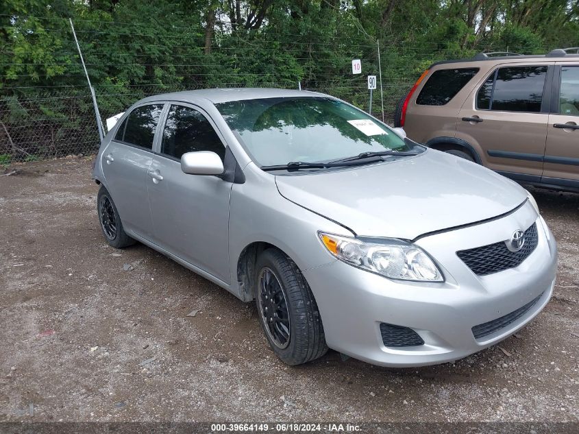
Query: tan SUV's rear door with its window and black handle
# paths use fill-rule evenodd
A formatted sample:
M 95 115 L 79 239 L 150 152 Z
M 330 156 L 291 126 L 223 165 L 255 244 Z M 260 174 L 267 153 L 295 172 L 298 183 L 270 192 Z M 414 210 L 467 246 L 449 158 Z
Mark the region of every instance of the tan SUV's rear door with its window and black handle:
M 551 65 L 497 65 L 460 109 L 456 137 L 482 149 L 485 166 L 510 178 L 541 180 Z

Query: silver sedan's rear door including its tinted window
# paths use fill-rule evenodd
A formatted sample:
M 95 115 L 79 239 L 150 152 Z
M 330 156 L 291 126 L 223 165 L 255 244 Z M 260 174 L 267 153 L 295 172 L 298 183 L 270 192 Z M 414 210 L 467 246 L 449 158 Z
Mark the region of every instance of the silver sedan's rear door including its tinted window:
M 164 104 L 134 108 L 102 153 L 106 187 L 126 230 L 149 239 L 151 213 L 147 198 L 147 170 L 153 162 L 153 141 Z

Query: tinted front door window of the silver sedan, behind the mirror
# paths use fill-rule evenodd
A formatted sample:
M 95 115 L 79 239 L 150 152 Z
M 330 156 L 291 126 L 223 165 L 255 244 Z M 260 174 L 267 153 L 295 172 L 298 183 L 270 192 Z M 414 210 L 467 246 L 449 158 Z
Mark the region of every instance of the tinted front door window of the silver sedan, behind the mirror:
M 225 157 L 225 146 L 204 117 L 197 110 L 171 106 L 163 131 L 161 153 L 180 159 L 186 152 L 212 151 Z

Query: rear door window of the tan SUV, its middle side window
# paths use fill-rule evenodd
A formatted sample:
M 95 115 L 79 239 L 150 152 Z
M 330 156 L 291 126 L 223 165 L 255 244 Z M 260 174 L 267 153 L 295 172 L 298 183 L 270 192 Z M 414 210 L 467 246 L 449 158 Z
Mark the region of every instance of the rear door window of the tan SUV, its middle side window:
M 547 67 L 500 68 L 477 95 L 477 108 L 505 112 L 541 112 Z

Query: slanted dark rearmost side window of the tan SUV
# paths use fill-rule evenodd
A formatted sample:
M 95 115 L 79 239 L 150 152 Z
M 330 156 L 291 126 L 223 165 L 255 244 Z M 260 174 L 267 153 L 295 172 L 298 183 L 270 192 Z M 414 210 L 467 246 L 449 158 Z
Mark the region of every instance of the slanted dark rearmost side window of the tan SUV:
M 444 106 L 478 73 L 478 68 L 439 69 L 420 91 L 416 104 Z

